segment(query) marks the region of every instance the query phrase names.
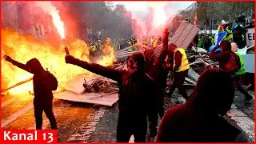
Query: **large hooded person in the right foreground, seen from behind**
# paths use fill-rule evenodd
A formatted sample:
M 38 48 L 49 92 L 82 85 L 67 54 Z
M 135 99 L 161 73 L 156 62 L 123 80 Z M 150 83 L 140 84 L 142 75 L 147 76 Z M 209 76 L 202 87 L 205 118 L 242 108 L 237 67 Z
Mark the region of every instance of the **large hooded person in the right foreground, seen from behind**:
M 157 142 L 247 142 L 242 130 L 222 118 L 233 100 L 230 74 L 218 68 L 205 70 L 189 100 L 167 110 Z

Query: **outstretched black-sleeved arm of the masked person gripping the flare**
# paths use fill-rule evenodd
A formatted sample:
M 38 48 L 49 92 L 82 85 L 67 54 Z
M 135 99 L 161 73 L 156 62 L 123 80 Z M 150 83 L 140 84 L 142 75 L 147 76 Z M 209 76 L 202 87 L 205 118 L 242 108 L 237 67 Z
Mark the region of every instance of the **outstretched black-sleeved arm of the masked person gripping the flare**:
M 71 55 L 66 55 L 66 63 L 70 63 L 76 66 L 80 66 L 90 72 L 95 74 L 102 75 L 103 77 L 113 79 L 114 81 L 120 82 L 122 78 L 122 72 L 119 70 L 114 70 L 111 68 L 107 68 L 105 66 L 98 65 L 96 63 L 89 63 L 79 60 L 78 58 L 74 58 Z

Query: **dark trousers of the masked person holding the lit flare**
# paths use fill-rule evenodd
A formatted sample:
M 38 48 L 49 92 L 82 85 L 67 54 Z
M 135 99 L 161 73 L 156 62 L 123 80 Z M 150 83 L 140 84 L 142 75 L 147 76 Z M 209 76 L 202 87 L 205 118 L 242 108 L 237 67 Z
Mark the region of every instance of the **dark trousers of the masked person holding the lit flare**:
M 146 131 L 146 118 L 119 112 L 117 142 L 129 142 L 131 135 L 134 135 L 134 142 L 146 142 Z

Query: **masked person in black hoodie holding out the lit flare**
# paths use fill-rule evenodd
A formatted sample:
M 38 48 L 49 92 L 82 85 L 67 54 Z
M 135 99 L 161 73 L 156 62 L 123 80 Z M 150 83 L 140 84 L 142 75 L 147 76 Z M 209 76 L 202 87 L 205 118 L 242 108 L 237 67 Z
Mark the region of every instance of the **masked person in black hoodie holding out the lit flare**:
M 114 70 L 95 63 L 83 62 L 71 55 L 66 55 L 66 63 L 118 82 L 117 142 L 129 142 L 132 134 L 134 142 L 146 141 L 147 116 L 156 113 L 156 98 L 154 81 L 144 70 L 145 59 L 142 53 L 127 58 L 128 70 Z

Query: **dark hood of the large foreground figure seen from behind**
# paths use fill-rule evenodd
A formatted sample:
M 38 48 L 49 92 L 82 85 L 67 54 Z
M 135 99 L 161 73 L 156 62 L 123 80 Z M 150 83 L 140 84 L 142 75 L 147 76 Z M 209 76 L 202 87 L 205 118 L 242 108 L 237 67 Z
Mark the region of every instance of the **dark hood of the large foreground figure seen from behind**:
M 188 103 L 203 113 L 223 116 L 234 100 L 234 85 L 230 74 L 218 68 L 202 72 Z

